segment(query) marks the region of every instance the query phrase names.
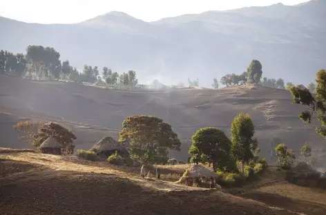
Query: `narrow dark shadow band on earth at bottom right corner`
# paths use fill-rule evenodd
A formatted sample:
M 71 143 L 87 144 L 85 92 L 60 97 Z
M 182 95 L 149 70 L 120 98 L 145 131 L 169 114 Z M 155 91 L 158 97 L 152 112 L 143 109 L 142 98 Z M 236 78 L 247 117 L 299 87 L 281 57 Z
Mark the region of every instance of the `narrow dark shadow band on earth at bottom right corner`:
M 241 197 L 251 198 L 256 201 L 260 201 L 261 203 L 265 203 L 271 207 L 281 207 L 285 209 L 289 209 L 293 212 L 304 213 L 304 214 L 324 214 L 326 211 L 326 204 L 320 204 L 309 201 L 309 196 L 307 201 L 301 201 L 294 198 L 288 198 L 285 196 L 280 196 L 278 194 L 268 194 L 263 192 L 247 192 L 245 194 L 241 194 Z

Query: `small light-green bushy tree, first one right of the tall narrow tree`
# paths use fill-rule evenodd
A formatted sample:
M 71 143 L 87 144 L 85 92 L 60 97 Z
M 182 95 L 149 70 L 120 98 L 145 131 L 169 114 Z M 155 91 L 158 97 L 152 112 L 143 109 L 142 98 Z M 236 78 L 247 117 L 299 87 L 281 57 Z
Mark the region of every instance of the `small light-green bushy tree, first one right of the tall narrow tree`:
M 283 169 L 290 169 L 294 165 L 294 156 L 292 150 L 289 150 L 285 144 L 278 144 L 275 147 L 276 155 L 278 156 L 278 166 Z

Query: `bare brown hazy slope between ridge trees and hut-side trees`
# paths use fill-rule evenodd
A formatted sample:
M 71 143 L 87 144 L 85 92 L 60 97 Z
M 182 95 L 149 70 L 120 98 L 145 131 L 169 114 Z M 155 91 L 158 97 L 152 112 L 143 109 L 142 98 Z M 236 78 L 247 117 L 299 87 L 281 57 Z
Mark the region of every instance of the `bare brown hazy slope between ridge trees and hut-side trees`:
M 132 114 L 162 118 L 171 123 L 175 132 L 185 141 L 191 138 L 195 130 L 204 126 L 218 127 L 229 134 L 231 121 L 240 111 L 248 112 L 253 117 L 262 156 L 267 158 L 271 150 L 270 141 L 274 137 L 280 137 L 295 150 L 305 141 L 317 146 L 315 150 L 325 144 L 315 134 L 313 127 L 299 121 L 298 114 L 303 107 L 291 105 L 291 96 L 286 90 L 238 87 L 127 92 L 79 83 L 27 81 L 1 76 L 0 92 L 0 110 L 15 116 L 55 119 L 70 124 L 79 133 L 77 144 L 86 149 L 109 133 L 105 129 L 109 129 L 110 134 L 117 138 L 122 121 Z M 9 124 L 1 123 L 8 131 Z M 12 136 L 6 140 L 10 144 L 17 142 Z M 188 147 L 188 144 L 184 144 L 182 152 L 172 152 L 171 156 L 186 160 Z

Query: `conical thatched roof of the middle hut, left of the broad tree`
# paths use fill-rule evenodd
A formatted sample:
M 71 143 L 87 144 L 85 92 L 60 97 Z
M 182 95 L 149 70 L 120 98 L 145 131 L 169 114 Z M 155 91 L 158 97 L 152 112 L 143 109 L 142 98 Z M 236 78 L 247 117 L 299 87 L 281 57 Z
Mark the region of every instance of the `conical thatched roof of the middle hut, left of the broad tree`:
M 106 151 L 106 150 L 119 150 L 120 152 L 124 152 L 128 154 L 126 148 L 121 145 L 118 141 L 115 141 L 111 136 L 106 136 L 104 139 L 95 143 L 95 145 L 90 149 L 95 153 Z

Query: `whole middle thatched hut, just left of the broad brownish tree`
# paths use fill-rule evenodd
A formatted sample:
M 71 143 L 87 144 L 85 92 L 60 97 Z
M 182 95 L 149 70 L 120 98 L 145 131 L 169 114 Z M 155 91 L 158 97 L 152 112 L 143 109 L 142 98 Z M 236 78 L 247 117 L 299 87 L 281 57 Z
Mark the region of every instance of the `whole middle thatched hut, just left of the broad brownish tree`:
M 95 143 L 95 145 L 90 149 L 90 151 L 95 152 L 100 158 L 108 158 L 112 154 L 119 154 L 122 156 L 128 165 L 132 165 L 133 161 L 129 156 L 128 150 L 124 145 L 120 144 L 118 141 L 115 141 L 111 136 L 106 136 L 104 139 Z

